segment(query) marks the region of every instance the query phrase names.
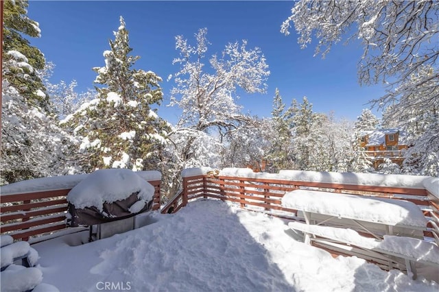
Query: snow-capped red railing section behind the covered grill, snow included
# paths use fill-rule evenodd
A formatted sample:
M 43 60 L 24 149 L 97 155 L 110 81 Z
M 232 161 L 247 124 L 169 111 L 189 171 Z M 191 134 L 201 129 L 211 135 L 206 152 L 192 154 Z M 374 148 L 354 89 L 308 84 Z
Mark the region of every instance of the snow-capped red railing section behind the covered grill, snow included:
M 158 210 L 161 173 L 158 171 L 136 173 L 154 186 L 152 210 Z M 84 174 L 37 178 L 1 186 L 1 234 L 9 234 L 15 240 L 27 241 L 32 236 L 66 229 L 67 217 L 69 217 L 67 194 L 86 176 Z

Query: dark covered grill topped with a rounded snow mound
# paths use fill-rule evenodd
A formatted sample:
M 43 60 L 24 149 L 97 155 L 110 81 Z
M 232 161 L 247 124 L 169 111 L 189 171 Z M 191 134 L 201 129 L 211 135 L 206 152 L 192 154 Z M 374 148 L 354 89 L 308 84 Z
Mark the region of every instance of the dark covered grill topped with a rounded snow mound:
M 135 228 L 135 216 L 151 210 L 154 186 L 130 169 L 102 169 L 71 189 L 69 225 L 90 226 L 90 240 Z

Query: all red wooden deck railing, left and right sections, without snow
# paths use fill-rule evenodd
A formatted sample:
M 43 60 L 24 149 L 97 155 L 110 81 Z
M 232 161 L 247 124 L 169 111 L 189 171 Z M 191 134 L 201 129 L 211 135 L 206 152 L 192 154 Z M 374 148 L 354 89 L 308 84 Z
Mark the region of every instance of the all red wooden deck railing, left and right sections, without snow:
M 323 180 L 324 181 L 324 180 Z M 154 188 L 153 210 L 160 208 L 161 180 L 148 180 Z M 425 188 L 341 184 L 316 180 L 293 180 L 240 175 L 198 174 L 183 178 L 182 191 L 162 209 L 162 213 L 177 212 L 188 202 L 199 197 L 234 202 L 242 208 L 267 212 L 279 217 L 293 218 L 296 210 L 284 208 L 281 199 L 285 193 L 299 188 L 319 189 L 335 193 L 348 193 L 391 199 L 405 199 L 420 206 L 429 220 L 425 232 L 439 242 L 439 198 Z M 67 199 L 71 188 L 51 191 L 23 191 L 0 197 L 0 232 L 16 240 L 28 240 L 67 228 Z

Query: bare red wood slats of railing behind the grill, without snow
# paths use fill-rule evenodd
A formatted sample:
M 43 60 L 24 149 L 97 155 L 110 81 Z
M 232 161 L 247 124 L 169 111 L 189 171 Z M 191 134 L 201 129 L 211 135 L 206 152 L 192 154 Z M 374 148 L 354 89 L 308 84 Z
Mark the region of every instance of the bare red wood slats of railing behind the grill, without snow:
M 151 180 L 154 186 L 153 210 L 160 208 L 161 180 Z M 28 241 L 67 228 L 67 194 L 71 188 L 49 191 L 23 191 L 0 196 L 0 232 L 16 240 Z

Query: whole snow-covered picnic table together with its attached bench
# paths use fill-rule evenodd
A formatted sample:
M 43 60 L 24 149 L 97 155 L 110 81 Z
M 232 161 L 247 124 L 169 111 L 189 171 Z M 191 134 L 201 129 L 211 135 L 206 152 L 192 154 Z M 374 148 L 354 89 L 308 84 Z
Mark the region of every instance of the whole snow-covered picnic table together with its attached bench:
M 388 269 L 406 269 L 414 278 L 416 263 L 439 267 L 439 247 L 423 241 L 427 219 L 412 202 L 296 190 L 286 193 L 282 204 L 298 210 L 298 217 L 305 220 L 289 223 L 289 228 L 304 233 L 305 243 L 372 260 Z

